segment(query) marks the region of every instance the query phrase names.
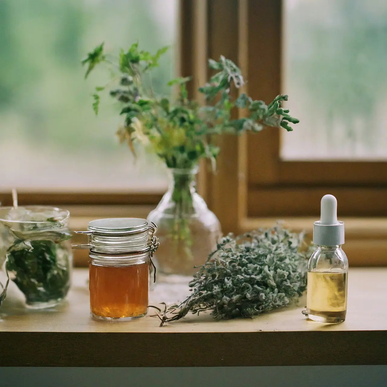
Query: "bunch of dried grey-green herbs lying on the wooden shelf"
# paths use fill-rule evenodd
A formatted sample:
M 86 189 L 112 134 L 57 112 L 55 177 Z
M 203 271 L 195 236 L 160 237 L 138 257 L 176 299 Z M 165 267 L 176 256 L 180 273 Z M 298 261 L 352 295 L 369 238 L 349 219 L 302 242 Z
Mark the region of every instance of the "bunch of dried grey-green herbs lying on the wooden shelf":
M 310 249 L 304 235 L 276 226 L 228 235 L 194 275 L 192 291 L 164 313 L 165 322 L 211 310 L 215 319 L 252 317 L 296 301 L 307 288 Z

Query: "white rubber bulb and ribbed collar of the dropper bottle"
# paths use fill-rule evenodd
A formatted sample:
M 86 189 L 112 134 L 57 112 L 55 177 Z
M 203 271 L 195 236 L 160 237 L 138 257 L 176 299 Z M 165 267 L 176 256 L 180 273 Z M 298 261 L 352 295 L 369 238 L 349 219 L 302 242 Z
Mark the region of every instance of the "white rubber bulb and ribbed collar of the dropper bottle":
M 337 200 L 333 195 L 321 199 L 320 221 L 313 225 L 313 243 L 319 246 L 344 243 L 344 222 L 337 220 Z

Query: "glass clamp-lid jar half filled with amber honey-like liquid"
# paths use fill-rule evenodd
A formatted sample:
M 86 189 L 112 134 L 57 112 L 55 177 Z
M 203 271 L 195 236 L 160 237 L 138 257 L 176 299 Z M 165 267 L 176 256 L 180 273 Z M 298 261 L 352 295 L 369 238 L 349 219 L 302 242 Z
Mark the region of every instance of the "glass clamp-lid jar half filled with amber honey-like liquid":
M 139 218 L 91 221 L 86 234 L 88 248 L 91 314 L 98 320 L 126 321 L 146 315 L 149 266 L 159 246 L 157 226 Z M 156 271 L 154 272 L 156 280 Z

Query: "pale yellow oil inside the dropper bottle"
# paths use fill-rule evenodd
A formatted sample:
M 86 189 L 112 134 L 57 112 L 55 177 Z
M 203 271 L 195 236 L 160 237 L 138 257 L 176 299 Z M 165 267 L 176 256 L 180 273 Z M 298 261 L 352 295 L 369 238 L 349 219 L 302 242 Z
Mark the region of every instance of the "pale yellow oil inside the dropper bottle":
M 319 322 L 342 322 L 347 312 L 345 271 L 308 272 L 307 314 Z

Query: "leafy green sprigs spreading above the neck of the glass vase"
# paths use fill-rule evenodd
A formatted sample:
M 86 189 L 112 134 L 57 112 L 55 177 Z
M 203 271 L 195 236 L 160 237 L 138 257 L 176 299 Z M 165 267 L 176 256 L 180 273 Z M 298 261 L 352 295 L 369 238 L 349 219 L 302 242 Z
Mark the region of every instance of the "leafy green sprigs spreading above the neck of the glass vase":
M 233 98 L 233 89 L 243 86 L 244 80 L 236 64 L 223 56 L 218 62 L 209 60 L 209 67 L 215 74 L 199 88 L 207 106 L 200 106 L 188 98 L 187 82 L 190 77 L 173 79 L 168 83 L 171 87 L 178 87 L 176 98 L 155 96 L 149 70 L 158 66 L 167 49 L 163 47 L 152 55 L 139 50 L 138 43 L 134 43 L 127 51 L 121 50 L 118 59 L 111 62 L 101 44 L 82 61 L 83 65 L 87 65 L 85 77 L 100 63 L 112 65 L 118 71 L 118 85 L 110 89 L 110 96 L 123 105 L 120 115 L 124 120 L 118 136 L 121 142 L 128 143 L 133 152 L 134 144 L 140 142 L 156 153 L 169 168 L 187 169 L 197 164 L 200 158 L 209 158 L 215 163 L 220 151 L 213 141 L 216 135 L 259 132 L 265 126 L 291 131 L 289 123 L 299 122 L 281 106 L 288 99 L 286 95 L 277 96 L 269 105 L 244 93 Z M 96 114 L 100 92 L 104 89 L 96 87 L 93 94 Z M 247 115 L 232 119 L 236 108 L 246 109 Z

